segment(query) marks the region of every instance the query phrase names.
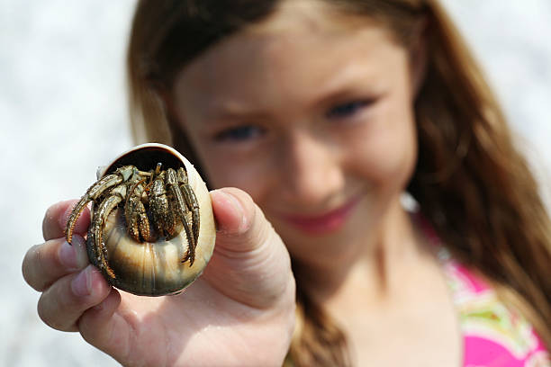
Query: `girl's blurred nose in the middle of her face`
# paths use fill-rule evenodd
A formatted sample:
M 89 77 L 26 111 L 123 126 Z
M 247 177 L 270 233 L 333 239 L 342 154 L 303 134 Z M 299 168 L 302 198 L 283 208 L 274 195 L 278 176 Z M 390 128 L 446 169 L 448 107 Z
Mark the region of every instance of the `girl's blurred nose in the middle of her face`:
M 328 203 L 344 186 L 340 149 L 302 131 L 288 139 L 281 155 L 282 200 L 315 208 Z

